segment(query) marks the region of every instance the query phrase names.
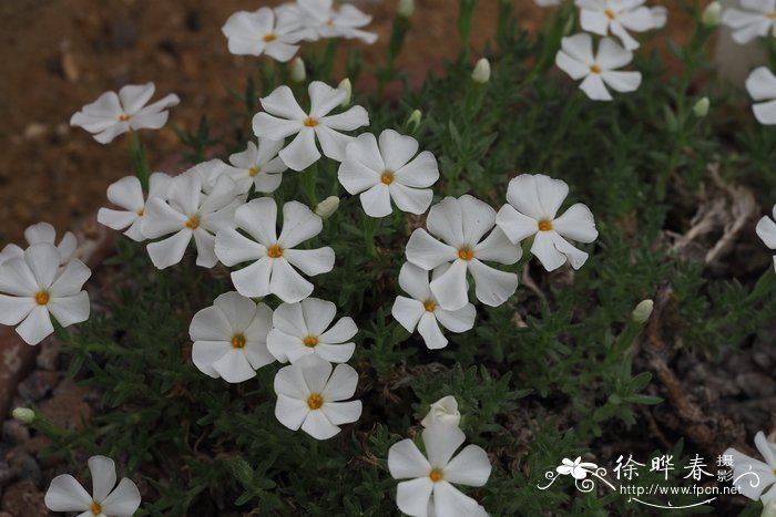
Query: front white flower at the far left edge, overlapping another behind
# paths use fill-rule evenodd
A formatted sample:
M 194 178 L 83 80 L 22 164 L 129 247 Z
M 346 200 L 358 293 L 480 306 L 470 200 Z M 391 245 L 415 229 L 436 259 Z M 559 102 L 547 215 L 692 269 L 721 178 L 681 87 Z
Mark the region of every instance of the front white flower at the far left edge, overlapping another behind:
M 89 296 L 81 287 L 92 272 L 78 259 L 60 268 L 60 254 L 41 242 L 0 266 L 0 324 L 17 327 L 29 344 L 54 331 L 51 317 L 68 327 L 89 319 Z

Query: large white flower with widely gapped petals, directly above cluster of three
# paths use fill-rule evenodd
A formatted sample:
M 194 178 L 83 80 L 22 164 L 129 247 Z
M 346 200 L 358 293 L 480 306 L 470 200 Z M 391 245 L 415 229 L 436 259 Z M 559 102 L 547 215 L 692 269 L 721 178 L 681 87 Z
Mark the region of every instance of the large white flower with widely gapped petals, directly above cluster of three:
M 225 266 L 241 262 L 252 265 L 232 272 L 232 282 L 246 297 L 276 294 L 287 303 L 304 300 L 313 292 L 313 285 L 299 275 L 328 272 L 334 267 L 334 250 L 328 246 L 317 249 L 294 249 L 300 242 L 320 234 L 320 217 L 298 201 L 283 206 L 283 229 L 277 237 L 277 205 L 268 197 L 247 203 L 235 213 L 237 228 L 226 228 L 215 239 L 215 254 Z

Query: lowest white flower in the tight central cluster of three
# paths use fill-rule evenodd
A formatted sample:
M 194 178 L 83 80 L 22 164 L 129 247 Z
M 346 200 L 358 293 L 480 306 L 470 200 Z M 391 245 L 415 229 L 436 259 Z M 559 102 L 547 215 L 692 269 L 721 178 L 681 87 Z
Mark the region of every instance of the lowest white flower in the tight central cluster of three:
M 327 440 L 339 425 L 361 416 L 361 401 L 343 402 L 356 393 L 358 373 L 347 364 L 331 364 L 317 354 L 305 355 L 275 375 L 275 416 L 288 427 Z

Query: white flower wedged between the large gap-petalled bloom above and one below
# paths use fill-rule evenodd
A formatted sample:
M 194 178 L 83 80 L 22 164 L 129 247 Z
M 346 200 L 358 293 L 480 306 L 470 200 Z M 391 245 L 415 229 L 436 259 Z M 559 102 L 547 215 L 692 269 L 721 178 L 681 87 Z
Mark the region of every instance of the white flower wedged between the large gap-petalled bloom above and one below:
M 317 298 L 282 303 L 273 314 L 269 352 L 284 363 L 314 353 L 333 363 L 346 362 L 356 350 L 355 343 L 346 341 L 356 335 L 358 328 L 347 317 L 329 328 L 336 314 L 337 306 Z

